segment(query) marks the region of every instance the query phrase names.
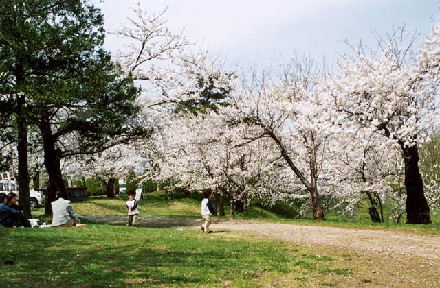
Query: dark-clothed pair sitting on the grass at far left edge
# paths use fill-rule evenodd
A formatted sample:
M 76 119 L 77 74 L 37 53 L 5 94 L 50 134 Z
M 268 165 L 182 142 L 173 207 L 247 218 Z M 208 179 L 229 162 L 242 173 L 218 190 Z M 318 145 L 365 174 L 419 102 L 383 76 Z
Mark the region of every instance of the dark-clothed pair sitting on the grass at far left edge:
M 11 208 L 12 204 L 17 203 L 17 195 L 10 193 L 0 193 L 0 224 L 5 227 L 30 227 L 30 222 L 23 216 L 23 213 L 17 209 Z

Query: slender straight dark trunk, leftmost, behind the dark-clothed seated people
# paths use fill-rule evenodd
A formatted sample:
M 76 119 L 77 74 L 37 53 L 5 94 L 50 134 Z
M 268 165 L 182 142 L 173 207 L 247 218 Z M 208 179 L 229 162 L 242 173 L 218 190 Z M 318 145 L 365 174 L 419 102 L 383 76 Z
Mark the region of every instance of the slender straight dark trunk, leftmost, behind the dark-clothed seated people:
M 23 114 L 24 96 L 19 97 L 18 110 Z M 17 152 L 19 154 L 19 203 L 23 207 L 24 217 L 32 218 L 30 213 L 29 200 L 29 170 L 28 170 L 28 128 L 25 119 L 22 116 L 17 117 L 18 144 Z

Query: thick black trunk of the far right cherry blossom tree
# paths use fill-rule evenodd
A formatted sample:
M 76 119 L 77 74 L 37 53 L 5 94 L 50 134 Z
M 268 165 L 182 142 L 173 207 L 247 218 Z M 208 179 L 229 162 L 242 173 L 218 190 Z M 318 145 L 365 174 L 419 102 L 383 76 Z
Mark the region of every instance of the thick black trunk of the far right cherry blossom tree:
M 432 224 L 419 171 L 419 150 L 416 145 L 410 148 L 402 145 L 402 150 L 405 162 L 406 221 L 409 224 Z

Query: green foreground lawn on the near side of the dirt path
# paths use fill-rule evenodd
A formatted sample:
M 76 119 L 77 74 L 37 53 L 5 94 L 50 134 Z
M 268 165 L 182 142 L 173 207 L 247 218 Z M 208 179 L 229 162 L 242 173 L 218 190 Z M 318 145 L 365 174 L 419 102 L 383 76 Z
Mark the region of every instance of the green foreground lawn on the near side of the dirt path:
M 310 256 L 305 248 L 227 231 L 203 235 L 195 228 L 89 224 L 81 228 L 1 228 L 0 235 L 1 263 L 15 263 L 1 269 L 4 287 L 211 287 L 228 281 L 258 287 L 262 276 L 292 273 L 302 262 L 311 263 L 301 267 L 310 272 L 346 271 L 334 267 L 338 265 L 335 259 L 323 261 L 320 256 Z

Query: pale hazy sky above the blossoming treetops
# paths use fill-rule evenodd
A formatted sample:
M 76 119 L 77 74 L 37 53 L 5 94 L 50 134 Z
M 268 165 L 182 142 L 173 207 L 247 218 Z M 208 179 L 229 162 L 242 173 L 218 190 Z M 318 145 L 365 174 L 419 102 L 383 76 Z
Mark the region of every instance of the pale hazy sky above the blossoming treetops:
M 405 25 L 408 34 L 421 34 L 421 43 L 440 21 L 439 0 L 91 0 L 102 9 L 108 31 L 128 23 L 137 2 L 155 14 L 168 4 L 173 32 L 183 29 L 188 40 L 212 56 L 241 67 L 285 62 L 294 53 L 332 66 L 350 51 L 344 39 L 374 47 L 373 30 L 384 35 Z M 114 38 L 104 47 L 122 48 Z

